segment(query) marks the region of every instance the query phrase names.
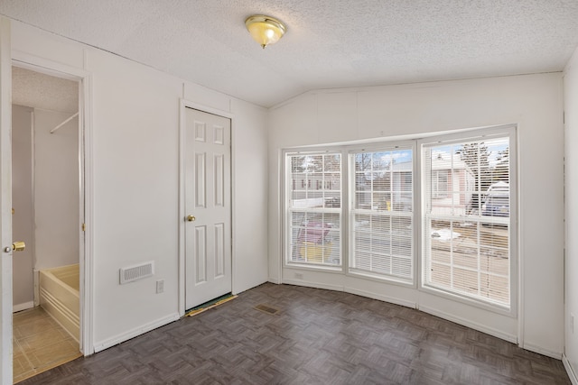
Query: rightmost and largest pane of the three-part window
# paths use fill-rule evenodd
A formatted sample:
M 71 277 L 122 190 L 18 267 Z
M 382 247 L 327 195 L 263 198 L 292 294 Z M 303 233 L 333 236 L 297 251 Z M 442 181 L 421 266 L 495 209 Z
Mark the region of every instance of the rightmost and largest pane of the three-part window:
M 509 150 L 508 136 L 423 146 L 424 287 L 510 307 Z

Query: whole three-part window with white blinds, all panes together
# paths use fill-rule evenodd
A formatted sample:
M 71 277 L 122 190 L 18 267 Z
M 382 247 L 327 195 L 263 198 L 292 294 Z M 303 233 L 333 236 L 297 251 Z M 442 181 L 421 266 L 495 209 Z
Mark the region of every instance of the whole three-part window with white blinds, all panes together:
M 499 127 L 285 152 L 285 266 L 415 285 L 513 314 L 514 137 Z

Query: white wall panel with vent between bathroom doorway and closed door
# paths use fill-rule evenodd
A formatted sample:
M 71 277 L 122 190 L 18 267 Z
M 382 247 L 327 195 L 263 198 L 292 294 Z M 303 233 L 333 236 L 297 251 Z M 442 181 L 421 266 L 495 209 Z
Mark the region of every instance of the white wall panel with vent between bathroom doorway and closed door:
M 95 341 L 107 345 L 178 311 L 182 85 L 98 50 L 87 51 L 86 69 L 94 85 Z M 155 276 L 119 286 L 119 268 L 144 261 L 155 262 Z

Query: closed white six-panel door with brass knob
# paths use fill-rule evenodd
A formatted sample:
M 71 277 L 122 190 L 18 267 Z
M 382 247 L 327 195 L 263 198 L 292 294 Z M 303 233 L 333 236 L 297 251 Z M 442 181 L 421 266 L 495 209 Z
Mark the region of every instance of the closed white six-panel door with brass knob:
M 185 109 L 185 308 L 231 291 L 231 122 Z

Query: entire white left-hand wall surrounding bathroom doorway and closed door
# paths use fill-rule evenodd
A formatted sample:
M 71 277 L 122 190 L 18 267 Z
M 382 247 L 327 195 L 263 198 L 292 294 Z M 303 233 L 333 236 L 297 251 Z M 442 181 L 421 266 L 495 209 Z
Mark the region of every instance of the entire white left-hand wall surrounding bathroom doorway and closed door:
M 12 25 L 14 55 L 91 76 L 94 223 L 88 225 L 94 234 L 96 349 L 178 317 L 183 96 L 233 115 L 234 290 L 265 282 L 266 110 L 23 23 Z M 119 268 L 144 261 L 155 262 L 154 277 L 119 285 Z M 155 294 L 160 279 L 164 292 Z

